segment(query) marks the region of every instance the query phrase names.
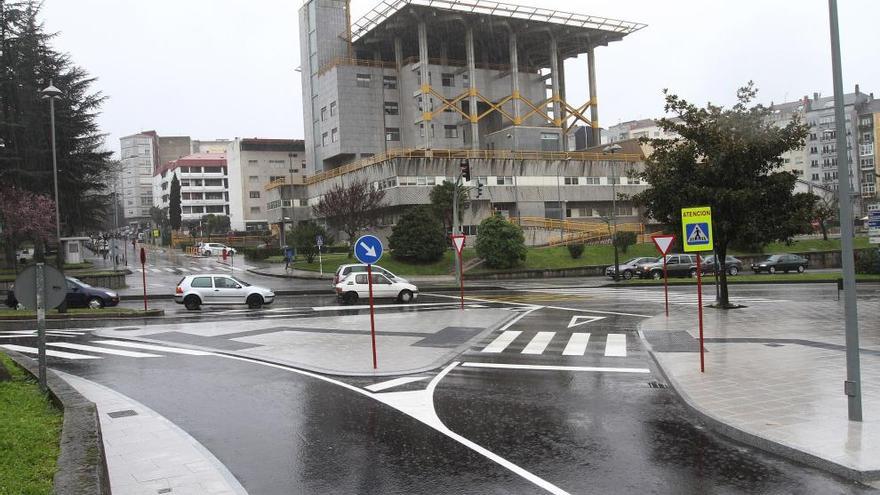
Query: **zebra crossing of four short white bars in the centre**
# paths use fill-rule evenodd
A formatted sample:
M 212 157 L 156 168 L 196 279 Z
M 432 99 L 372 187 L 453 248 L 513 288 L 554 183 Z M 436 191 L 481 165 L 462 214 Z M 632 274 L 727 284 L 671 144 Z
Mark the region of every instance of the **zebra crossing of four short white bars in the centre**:
M 557 337 L 561 333 L 562 337 Z M 584 356 L 590 347 L 590 332 L 570 332 L 566 339 L 564 335 L 568 332 L 535 332 L 531 335 L 523 335 L 520 330 L 505 330 L 501 332 L 492 342 L 489 342 L 479 352 L 482 354 L 501 354 L 501 353 L 519 353 L 526 355 L 548 355 L 558 353 L 558 346 L 551 346 L 554 341 L 556 343 L 565 342 L 562 348 L 563 356 Z M 605 336 L 604 356 L 605 357 L 626 357 L 626 340 L 625 333 L 608 333 Z M 601 339 L 594 340 L 597 345 L 601 346 Z M 525 343 L 522 350 L 516 351 L 519 346 L 514 345 Z M 550 349 L 550 352 L 548 352 Z M 547 353 L 547 354 L 545 354 Z

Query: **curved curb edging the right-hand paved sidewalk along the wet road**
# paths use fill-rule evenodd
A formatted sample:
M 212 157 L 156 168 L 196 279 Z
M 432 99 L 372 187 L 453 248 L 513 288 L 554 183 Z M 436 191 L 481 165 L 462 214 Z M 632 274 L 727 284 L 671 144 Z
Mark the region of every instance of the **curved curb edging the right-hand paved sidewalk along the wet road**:
M 819 457 L 817 455 L 810 454 L 809 452 L 805 452 L 796 447 L 792 447 L 790 445 L 786 445 L 784 443 L 770 440 L 760 435 L 741 430 L 737 427 L 725 423 L 724 420 L 703 411 L 696 404 L 696 402 L 694 402 L 693 399 L 691 399 L 691 397 L 682 390 L 681 385 L 666 372 L 665 368 L 663 368 L 663 365 L 657 358 L 653 348 L 651 348 L 650 343 L 647 341 L 647 339 L 645 339 L 644 335 L 642 334 L 641 324 L 639 324 L 639 336 L 642 340 L 642 344 L 648 351 L 648 355 L 651 356 L 651 360 L 653 361 L 655 367 L 660 372 L 660 375 L 663 377 L 663 379 L 666 380 L 666 383 L 669 384 L 669 388 L 672 390 L 672 392 L 676 395 L 676 397 L 681 400 L 681 402 L 691 413 L 696 415 L 697 418 L 699 418 L 699 420 L 712 431 L 734 441 L 761 449 L 766 452 L 770 452 L 781 457 L 785 457 L 787 459 L 805 464 L 807 466 L 819 468 L 823 471 L 827 471 L 850 480 L 858 481 L 860 483 L 877 481 L 878 479 L 880 479 L 880 470 L 858 471 L 842 464 L 829 461 L 828 459 Z

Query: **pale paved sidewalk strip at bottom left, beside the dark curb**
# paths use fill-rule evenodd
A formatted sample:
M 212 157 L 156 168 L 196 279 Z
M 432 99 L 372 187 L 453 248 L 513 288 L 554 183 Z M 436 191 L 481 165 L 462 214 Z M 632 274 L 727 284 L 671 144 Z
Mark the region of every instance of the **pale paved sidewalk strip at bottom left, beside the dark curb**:
M 98 408 L 114 494 L 247 494 L 206 448 L 152 409 L 103 385 L 55 372 Z

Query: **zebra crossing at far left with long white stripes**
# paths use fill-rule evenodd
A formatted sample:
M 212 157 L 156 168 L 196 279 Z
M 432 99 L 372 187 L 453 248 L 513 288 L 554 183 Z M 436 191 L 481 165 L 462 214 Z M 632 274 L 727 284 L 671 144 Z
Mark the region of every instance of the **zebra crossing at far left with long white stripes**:
M 47 332 L 51 335 L 51 332 Z M 34 334 L 24 335 L 20 337 L 34 337 Z M 57 336 L 57 335 L 56 335 Z M 0 339 L 9 338 L 8 335 L 0 335 Z M 79 344 L 74 342 L 48 342 L 46 344 L 46 356 L 66 359 L 71 361 L 103 359 L 105 356 L 119 356 L 126 358 L 162 358 L 167 355 L 188 355 L 188 356 L 213 356 L 213 353 L 205 351 L 197 351 L 194 349 L 186 349 L 182 347 L 170 347 L 158 344 L 148 344 L 144 342 L 131 342 L 124 340 L 95 340 L 88 344 Z M 18 345 L 18 344 L 0 344 L 0 347 L 10 351 L 20 352 L 22 354 L 37 355 L 39 350 L 36 347 Z M 149 351 L 149 352 L 147 352 Z

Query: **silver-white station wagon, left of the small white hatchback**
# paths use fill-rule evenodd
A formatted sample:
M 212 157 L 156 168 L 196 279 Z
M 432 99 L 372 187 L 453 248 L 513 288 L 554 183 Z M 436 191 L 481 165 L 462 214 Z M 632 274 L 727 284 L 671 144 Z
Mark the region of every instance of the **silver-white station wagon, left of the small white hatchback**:
M 174 302 L 190 310 L 205 304 L 247 304 L 249 308 L 259 308 L 274 300 L 272 289 L 223 274 L 187 275 L 174 289 Z

